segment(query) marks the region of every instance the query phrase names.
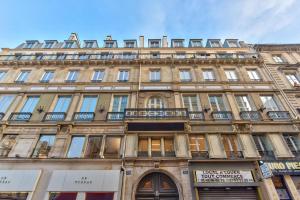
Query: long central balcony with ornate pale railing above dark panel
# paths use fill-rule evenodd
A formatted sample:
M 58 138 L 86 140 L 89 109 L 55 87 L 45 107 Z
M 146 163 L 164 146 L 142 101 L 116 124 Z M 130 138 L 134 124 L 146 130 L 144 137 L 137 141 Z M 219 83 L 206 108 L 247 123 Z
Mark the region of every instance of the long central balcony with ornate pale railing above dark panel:
M 125 119 L 188 119 L 186 108 L 129 108 L 125 109 Z

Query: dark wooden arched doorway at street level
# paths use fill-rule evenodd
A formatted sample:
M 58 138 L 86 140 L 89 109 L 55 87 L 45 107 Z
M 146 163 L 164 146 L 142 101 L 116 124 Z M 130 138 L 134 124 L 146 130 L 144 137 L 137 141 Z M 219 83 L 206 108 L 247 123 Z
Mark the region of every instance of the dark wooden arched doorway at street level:
M 146 175 L 138 184 L 136 200 L 178 200 L 179 194 L 173 180 L 159 172 Z

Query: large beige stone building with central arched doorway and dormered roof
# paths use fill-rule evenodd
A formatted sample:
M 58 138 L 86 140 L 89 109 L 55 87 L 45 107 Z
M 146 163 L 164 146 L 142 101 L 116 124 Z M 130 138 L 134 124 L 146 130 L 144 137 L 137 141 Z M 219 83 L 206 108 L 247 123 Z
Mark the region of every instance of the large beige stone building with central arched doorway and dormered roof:
M 299 198 L 297 176 L 260 172 L 297 168 L 299 124 L 252 46 L 144 43 L 2 49 L 0 199 Z

